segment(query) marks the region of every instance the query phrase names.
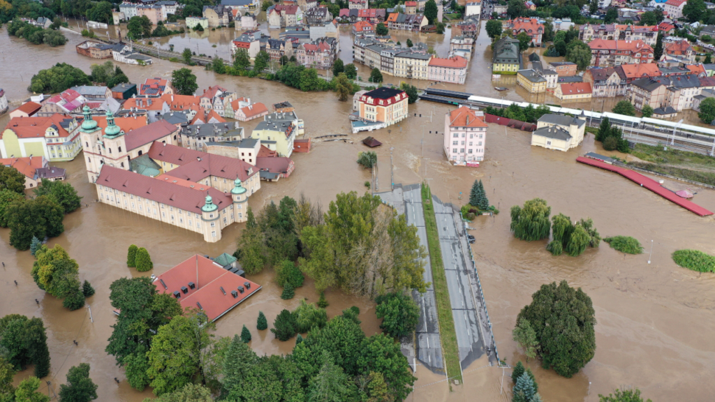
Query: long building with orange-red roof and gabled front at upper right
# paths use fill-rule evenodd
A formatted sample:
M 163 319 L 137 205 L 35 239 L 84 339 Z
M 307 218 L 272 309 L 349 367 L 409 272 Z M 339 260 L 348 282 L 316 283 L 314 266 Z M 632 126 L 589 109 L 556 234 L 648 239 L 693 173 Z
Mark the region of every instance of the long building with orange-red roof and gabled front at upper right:
M 653 62 L 653 48 L 641 40 L 593 39 L 588 46 L 591 48 L 591 65 L 594 67 Z

